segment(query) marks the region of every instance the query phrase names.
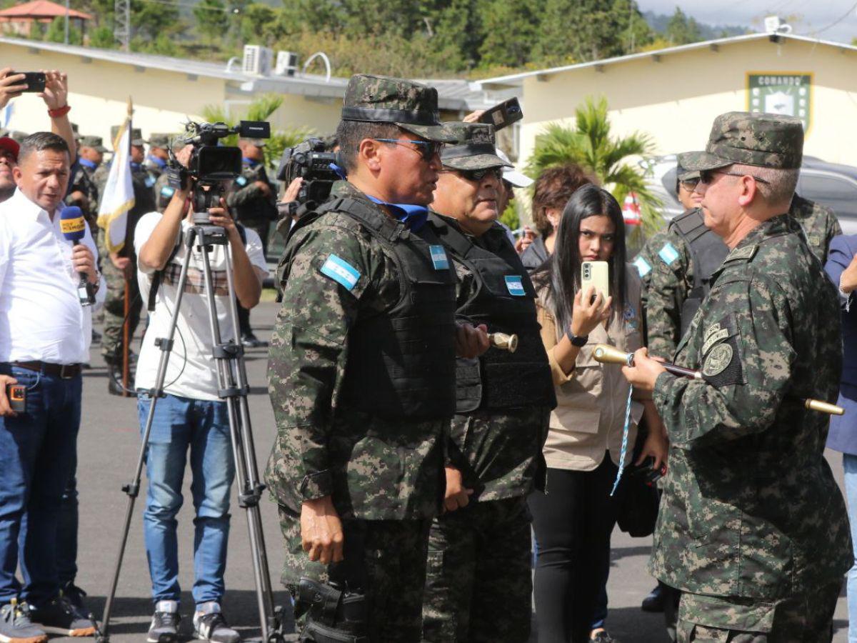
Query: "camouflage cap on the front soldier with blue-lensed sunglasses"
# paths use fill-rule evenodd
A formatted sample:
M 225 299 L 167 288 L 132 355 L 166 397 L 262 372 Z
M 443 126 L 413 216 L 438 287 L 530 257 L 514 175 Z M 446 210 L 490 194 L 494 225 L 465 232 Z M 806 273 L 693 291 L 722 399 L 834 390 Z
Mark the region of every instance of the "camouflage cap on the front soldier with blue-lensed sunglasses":
M 404 78 L 351 76 L 345 88 L 342 120 L 394 123 L 429 141 L 454 141 L 440 123 L 437 90 Z

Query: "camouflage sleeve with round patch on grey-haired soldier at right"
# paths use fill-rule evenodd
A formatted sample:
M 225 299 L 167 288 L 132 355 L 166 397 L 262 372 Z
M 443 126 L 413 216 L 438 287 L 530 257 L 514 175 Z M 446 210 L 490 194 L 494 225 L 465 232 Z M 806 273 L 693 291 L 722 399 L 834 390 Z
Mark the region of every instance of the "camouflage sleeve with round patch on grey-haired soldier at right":
M 792 318 L 785 292 L 758 273 L 717 279 L 698 328 L 688 331 L 696 345 L 688 353 L 704 356 L 705 379 L 662 373 L 656 381 L 654 399 L 671 444 L 706 448 L 771 426 L 792 383 Z

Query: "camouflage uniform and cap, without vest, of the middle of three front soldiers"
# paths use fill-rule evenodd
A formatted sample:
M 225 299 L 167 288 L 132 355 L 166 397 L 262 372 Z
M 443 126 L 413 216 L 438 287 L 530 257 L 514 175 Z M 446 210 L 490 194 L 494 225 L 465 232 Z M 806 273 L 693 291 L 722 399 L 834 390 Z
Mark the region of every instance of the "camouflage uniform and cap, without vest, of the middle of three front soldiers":
M 449 127 L 458 141 L 441 153 L 445 168 L 481 170 L 506 165 L 490 151 L 494 149 L 492 128 L 466 123 L 450 123 Z M 461 232 L 455 219 L 433 214 L 430 220 L 440 229 L 449 226 Z M 469 240 L 494 255 L 518 260 L 499 224 Z M 446 249 L 458 275 L 458 309 L 462 310 L 483 286 L 457 250 L 449 244 Z M 518 273 L 529 283 L 519 260 L 518 266 L 509 266 L 509 273 Z M 534 305 L 534 320 L 535 313 Z M 530 331 L 530 340 L 542 346 L 536 328 Z M 492 330 L 488 319 L 488 331 Z M 548 357 L 543 349 L 542 357 L 544 381 L 553 395 Z M 474 494 L 467 507 L 443 514 L 432 523 L 423 598 L 423 640 L 529 640 L 532 575 L 526 496 L 534 488 L 544 488 L 542 448 L 553 406 L 555 402 L 547 406 L 533 400 L 530 406 L 514 410 L 477 409 L 459 413 L 452 420 L 447 464 L 462 472 L 464 487 L 473 489 Z

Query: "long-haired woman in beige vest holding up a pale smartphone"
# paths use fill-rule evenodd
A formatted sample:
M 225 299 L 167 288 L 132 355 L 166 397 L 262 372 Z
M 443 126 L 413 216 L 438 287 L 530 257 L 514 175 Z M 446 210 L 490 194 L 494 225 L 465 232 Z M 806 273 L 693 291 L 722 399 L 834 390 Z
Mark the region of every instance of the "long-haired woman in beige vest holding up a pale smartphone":
M 586 261 L 606 261 L 601 288 L 581 287 Z M 597 265 L 587 272 L 599 273 Z M 619 203 L 596 185 L 577 189 L 566 204 L 554 253 L 533 275 L 538 321 L 548 351 L 558 405 L 550 418 L 544 454 L 546 494 L 530 496 L 538 543 L 536 620 L 540 643 L 612 641 L 594 619 L 610 564 L 610 534 L 616 522 L 610 496 L 619 471 L 629 385 L 616 364 L 592 358 L 596 344 L 633 352 L 642 345 L 640 282 L 626 266 L 625 226 Z M 632 394 L 627 414 L 625 466 L 637 424 L 650 428 L 638 462 L 667 457 L 667 440 L 650 394 Z

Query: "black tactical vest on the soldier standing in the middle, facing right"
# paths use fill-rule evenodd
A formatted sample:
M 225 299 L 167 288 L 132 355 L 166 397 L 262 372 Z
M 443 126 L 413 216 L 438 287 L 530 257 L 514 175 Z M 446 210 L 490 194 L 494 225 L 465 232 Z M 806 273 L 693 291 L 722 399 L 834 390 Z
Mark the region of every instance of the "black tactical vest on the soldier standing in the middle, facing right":
M 506 232 L 499 225 L 485 232 L 481 238 L 489 251 L 474 244 L 451 219 L 433 213 L 429 220 L 476 279 L 476 292 L 458 308 L 458 318 L 485 324 L 490 333 L 518 335 L 515 352 L 489 348 L 477 359 L 458 358 L 457 411 L 556 406 L 548 354 L 536 322 L 536 291 Z

